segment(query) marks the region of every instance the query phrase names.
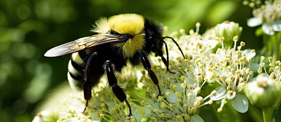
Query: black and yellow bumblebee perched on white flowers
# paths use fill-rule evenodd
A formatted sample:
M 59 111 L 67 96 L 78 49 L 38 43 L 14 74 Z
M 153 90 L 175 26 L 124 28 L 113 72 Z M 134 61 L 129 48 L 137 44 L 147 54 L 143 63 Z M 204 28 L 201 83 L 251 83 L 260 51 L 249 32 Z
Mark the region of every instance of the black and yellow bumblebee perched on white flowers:
M 157 85 L 158 96 L 161 96 L 159 81 L 155 72 L 151 70 L 148 55 L 155 53 L 156 56 L 160 56 L 167 71 L 170 72 L 167 44 L 163 39 L 172 38 L 163 37 L 162 24 L 138 14 L 120 14 L 108 19 L 99 18 L 91 32 L 97 34 L 59 45 L 45 53 L 47 57 L 72 53 L 68 65 L 68 80 L 72 88 L 83 90 L 86 100 L 83 112 L 92 97 L 92 87 L 106 74 L 112 92 L 119 101 L 126 103 L 129 115 L 132 115 L 126 94 L 118 85 L 115 76 L 115 72 L 121 73 L 127 63 L 133 67 L 143 66 L 153 83 Z M 172 41 L 176 43 L 174 39 Z M 163 44 L 167 59 L 163 56 Z M 176 45 L 179 47 L 177 43 Z M 179 50 L 183 55 L 180 47 Z

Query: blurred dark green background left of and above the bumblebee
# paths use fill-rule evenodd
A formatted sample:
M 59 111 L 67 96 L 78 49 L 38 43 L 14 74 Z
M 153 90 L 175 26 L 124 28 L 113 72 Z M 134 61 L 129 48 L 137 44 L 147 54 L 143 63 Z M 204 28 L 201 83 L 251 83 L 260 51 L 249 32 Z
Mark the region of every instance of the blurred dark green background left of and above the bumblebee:
M 138 13 L 168 26 L 168 33 L 195 28 L 200 33 L 224 20 L 243 26 L 240 41 L 261 49 L 261 37 L 246 25 L 252 9 L 242 1 L 0 0 L 0 121 L 31 121 L 48 92 L 67 82 L 70 54 L 44 57 L 57 45 L 90 36 L 100 17 Z M 245 49 L 245 48 L 244 48 Z

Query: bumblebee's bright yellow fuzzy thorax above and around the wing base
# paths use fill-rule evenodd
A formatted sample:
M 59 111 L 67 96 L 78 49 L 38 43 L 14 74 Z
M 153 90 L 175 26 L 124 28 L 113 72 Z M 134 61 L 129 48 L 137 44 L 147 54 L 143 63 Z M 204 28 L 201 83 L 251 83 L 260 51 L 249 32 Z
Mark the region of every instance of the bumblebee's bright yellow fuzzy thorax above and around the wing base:
M 96 21 L 96 25 L 91 30 L 99 34 L 108 34 L 114 31 L 118 34 L 131 35 L 133 38 L 123 43 L 116 43 L 119 53 L 122 52 L 124 58 L 131 58 L 138 51 L 143 49 L 145 44 L 144 18 L 138 14 L 120 14 L 109 17 L 100 18 Z

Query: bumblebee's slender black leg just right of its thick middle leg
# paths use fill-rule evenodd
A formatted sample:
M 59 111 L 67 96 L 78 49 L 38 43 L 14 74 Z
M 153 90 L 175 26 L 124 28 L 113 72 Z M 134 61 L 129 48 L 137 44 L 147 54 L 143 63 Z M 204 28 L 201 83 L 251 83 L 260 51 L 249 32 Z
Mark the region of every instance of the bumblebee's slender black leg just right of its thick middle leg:
M 158 96 L 161 96 L 161 89 L 160 89 L 160 86 L 159 86 L 159 80 L 158 80 L 157 76 L 155 75 L 155 73 L 151 70 L 151 65 L 149 63 L 149 60 L 148 60 L 147 56 L 144 54 L 144 52 L 142 50 L 139 50 L 138 53 L 140 55 L 141 62 L 142 62 L 142 65 L 143 65 L 144 69 L 147 70 L 148 75 L 152 79 L 153 83 L 155 85 L 157 85 L 158 92 L 159 92 Z

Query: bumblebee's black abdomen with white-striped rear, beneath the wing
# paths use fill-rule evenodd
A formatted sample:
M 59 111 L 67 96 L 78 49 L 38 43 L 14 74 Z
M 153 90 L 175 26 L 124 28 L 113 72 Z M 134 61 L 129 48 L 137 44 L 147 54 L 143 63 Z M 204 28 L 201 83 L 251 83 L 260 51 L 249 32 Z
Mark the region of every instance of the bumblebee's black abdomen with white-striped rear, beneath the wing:
M 90 53 L 85 54 L 85 51 Z M 126 60 L 110 47 L 100 47 L 73 53 L 69 62 L 68 80 L 74 89 L 82 90 L 84 85 L 98 84 L 105 73 L 105 62 L 110 60 L 114 71 L 121 72 Z

